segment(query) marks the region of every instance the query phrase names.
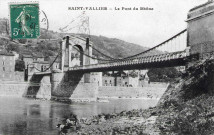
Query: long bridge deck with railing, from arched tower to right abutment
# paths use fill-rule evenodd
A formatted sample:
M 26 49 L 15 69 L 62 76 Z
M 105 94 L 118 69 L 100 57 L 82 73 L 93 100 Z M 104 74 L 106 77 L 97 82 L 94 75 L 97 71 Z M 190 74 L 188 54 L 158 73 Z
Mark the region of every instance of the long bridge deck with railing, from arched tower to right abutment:
M 69 72 L 103 72 L 117 70 L 163 68 L 172 66 L 184 66 L 187 62 L 186 51 L 165 53 L 146 57 L 139 57 L 123 61 L 69 67 Z

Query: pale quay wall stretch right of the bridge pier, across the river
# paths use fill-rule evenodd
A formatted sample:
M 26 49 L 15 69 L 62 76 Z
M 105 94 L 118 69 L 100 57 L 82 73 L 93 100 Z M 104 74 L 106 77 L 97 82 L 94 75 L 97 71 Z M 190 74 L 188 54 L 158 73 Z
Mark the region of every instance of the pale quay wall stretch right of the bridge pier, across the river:
M 99 87 L 98 97 L 126 97 L 126 98 L 160 98 L 165 92 L 168 84 L 157 83 L 150 84 L 146 87 L 115 87 L 102 86 Z

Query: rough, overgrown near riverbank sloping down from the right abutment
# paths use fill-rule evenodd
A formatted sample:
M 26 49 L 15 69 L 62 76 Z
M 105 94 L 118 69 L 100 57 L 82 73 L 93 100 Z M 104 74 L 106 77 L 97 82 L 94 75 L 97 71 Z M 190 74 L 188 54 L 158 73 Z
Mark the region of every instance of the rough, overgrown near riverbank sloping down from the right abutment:
M 201 61 L 170 84 L 158 105 L 101 114 L 82 123 L 79 134 L 209 135 L 214 132 L 213 61 Z

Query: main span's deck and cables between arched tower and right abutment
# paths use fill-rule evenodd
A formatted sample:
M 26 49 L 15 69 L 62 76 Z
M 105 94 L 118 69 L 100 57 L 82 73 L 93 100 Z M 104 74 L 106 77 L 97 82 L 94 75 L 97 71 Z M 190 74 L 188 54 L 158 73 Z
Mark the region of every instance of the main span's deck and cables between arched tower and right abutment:
M 101 53 L 103 57 L 110 59 L 95 58 L 76 49 L 80 54 L 85 55 L 85 57 L 99 60 L 101 63 L 69 67 L 67 71 L 102 72 L 184 66 L 189 57 L 186 46 L 186 29 L 146 51 L 122 59 L 112 58 L 90 46 L 93 50 Z M 154 55 L 154 50 L 159 51 L 160 54 Z

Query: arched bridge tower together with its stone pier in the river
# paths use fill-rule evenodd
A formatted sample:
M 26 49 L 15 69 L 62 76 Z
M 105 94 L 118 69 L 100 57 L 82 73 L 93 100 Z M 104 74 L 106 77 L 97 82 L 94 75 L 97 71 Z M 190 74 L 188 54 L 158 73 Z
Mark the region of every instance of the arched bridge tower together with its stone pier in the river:
M 92 42 L 88 38 L 66 36 L 61 43 L 60 70 L 52 71 L 51 98 L 55 100 L 96 100 L 98 84 L 90 73 L 70 72 L 69 68 L 91 64 Z

